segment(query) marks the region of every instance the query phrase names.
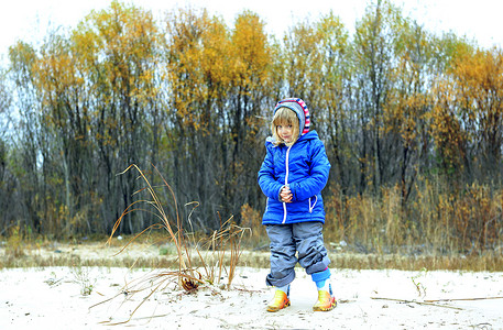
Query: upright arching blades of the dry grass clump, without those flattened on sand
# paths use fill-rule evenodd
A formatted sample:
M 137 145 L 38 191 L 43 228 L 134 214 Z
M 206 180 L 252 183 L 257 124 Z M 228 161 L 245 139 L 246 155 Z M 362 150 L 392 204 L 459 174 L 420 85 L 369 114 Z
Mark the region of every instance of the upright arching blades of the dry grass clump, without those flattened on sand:
M 178 202 L 173 193 L 172 187 L 166 183 L 161 173 L 153 166 L 155 174 L 158 176 L 161 184 L 153 185 L 136 165 L 130 165 L 123 173 L 135 169 L 139 178 L 145 184 L 144 188 L 139 189 L 135 195 L 144 194 L 144 198 L 140 198 L 132 202 L 123 212 L 122 216 L 116 221 L 110 238 L 107 241 L 111 245 L 113 235 L 119 228 L 120 223 L 131 212 L 145 211 L 158 219 L 154 223 L 145 228 L 142 232 L 133 237 L 119 252 L 122 253 L 128 246 L 136 239 L 152 230 L 161 229 L 166 234 L 165 241 L 168 240 L 174 248 L 176 254 L 176 266 L 178 268 L 175 273 L 170 273 L 170 276 L 176 276 L 181 287 L 186 290 L 197 289 L 199 285 L 205 283 L 215 284 L 219 280 L 221 275 L 226 273 L 230 286 L 234 268 L 238 264 L 241 251 L 241 240 L 245 229 L 238 227 L 230 217 L 227 221 L 220 223 L 220 228 L 212 232 L 212 234 L 196 242 L 195 235 L 184 228 L 183 219 L 179 218 Z M 166 210 L 166 205 L 163 204 L 157 195 L 160 189 L 167 189 L 172 197 L 172 209 Z M 198 202 L 189 202 L 186 206 L 192 206 L 194 209 L 198 207 Z M 170 218 L 170 213 L 175 215 L 175 219 Z M 190 224 L 190 215 L 187 221 Z M 199 246 L 206 246 L 206 250 Z M 211 251 L 208 253 L 208 251 Z M 199 270 L 200 268 L 200 270 Z

